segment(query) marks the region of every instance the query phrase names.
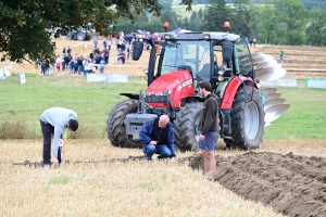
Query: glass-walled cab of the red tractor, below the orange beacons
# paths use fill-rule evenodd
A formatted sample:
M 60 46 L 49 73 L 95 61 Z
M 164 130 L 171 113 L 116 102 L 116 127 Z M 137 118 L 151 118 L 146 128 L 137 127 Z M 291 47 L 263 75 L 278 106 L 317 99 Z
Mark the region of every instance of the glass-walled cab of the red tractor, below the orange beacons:
M 155 41 L 149 42 L 155 48 Z M 162 76 L 168 77 L 172 72 L 183 71 L 191 76 L 195 92 L 198 84 L 206 80 L 212 84 L 214 93 L 222 98 L 233 76 L 242 75 L 254 79 L 250 51 L 238 35 L 212 31 L 165 33 L 163 41 L 159 43 L 162 46 L 161 52 L 152 49 L 146 71 L 149 87 Z

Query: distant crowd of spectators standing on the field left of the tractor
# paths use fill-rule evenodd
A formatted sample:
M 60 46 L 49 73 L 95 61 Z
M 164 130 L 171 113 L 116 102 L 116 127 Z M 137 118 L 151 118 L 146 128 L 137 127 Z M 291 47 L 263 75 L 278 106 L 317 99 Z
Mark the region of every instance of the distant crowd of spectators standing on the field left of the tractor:
M 93 51 L 85 56 L 83 54 L 75 53 L 68 46 L 62 49 L 62 55 L 53 55 L 50 61 L 37 59 L 35 61 L 35 68 L 40 65 L 41 74 L 49 75 L 50 72 L 68 71 L 71 74 L 87 75 L 88 73 L 95 73 L 97 69 L 100 73 L 104 73 L 105 65 L 109 64 L 110 52 L 113 44 L 116 47 L 116 61 L 118 64 L 124 65 L 133 56 L 134 41 L 139 38 L 152 38 L 153 40 L 161 41 L 161 34 L 150 34 L 149 31 L 138 30 L 124 35 L 120 31 L 116 38 L 106 37 L 103 40 L 99 40 L 98 37 L 92 39 Z M 101 43 L 102 44 L 101 44 Z M 143 41 L 145 50 L 150 50 L 151 47 L 147 41 Z M 158 49 L 158 48 L 156 48 Z

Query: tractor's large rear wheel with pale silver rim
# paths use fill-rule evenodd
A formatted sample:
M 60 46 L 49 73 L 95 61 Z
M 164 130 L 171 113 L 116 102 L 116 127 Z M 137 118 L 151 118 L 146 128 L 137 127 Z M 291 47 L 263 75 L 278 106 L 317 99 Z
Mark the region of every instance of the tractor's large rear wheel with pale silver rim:
M 265 112 L 259 90 L 253 90 L 252 101 L 246 103 L 244 87 L 240 87 L 233 104 L 231 137 L 234 148 L 258 149 L 263 140 Z

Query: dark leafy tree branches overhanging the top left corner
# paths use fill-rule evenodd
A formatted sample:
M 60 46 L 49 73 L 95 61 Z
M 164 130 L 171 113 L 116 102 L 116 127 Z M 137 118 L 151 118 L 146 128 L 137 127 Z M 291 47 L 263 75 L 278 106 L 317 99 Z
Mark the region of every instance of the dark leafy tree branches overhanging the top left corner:
M 191 10 L 192 0 L 183 0 L 181 3 Z M 115 9 L 108 8 L 114 4 Z M 55 43 L 45 30 L 49 27 L 67 29 L 93 23 L 95 28 L 103 33 L 110 24 L 115 26 L 120 17 L 135 21 L 145 11 L 158 16 L 161 9 L 158 0 L 2 0 L 1 61 L 9 59 L 21 63 L 39 56 L 50 59 Z

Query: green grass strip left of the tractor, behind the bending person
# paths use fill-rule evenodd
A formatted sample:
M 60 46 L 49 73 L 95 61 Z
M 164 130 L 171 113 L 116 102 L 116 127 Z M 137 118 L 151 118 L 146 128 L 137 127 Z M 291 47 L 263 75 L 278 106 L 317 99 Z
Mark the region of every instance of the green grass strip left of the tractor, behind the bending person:
M 40 133 L 41 113 L 53 106 L 74 110 L 80 127 L 97 129 L 96 138 L 104 137 L 111 107 L 126 97 L 121 92 L 138 93 L 145 89 L 142 77 L 129 77 L 130 84 L 88 84 L 84 76 L 51 77 L 27 74 L 20 85 L 16 75 L 0 80 L 0 126 L 4 122 L 26 123 Z

